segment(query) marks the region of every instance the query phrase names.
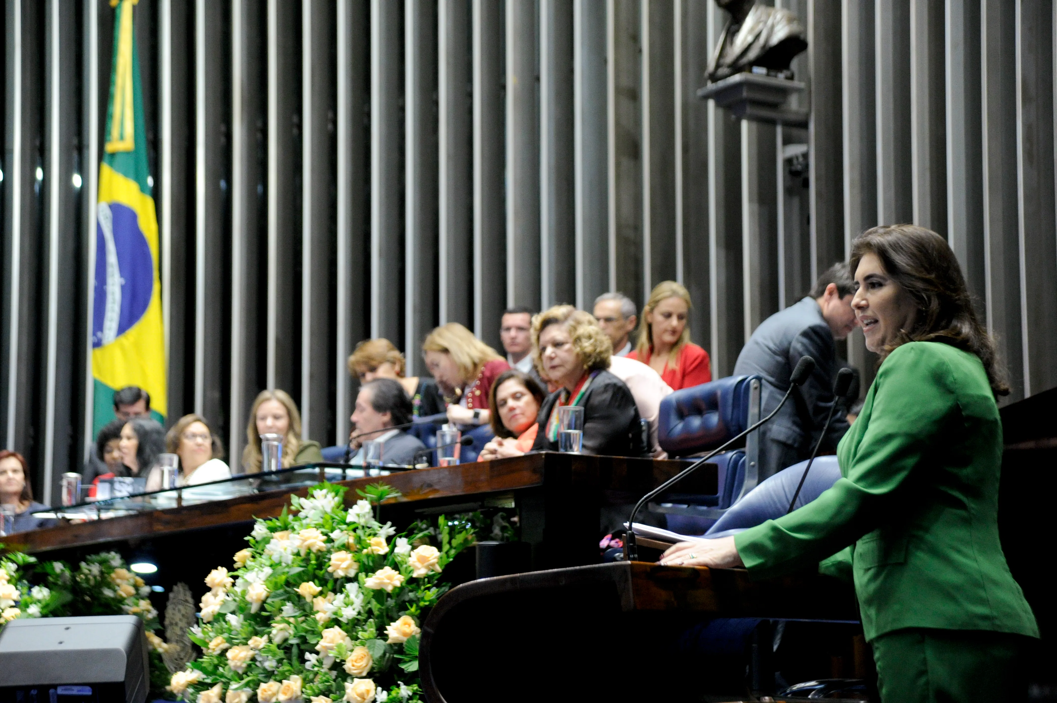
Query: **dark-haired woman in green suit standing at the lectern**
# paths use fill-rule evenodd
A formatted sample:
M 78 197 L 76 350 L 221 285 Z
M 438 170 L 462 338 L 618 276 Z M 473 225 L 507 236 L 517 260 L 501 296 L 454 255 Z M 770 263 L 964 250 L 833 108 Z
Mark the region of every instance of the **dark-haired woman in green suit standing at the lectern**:
M 1023 700 L 1018 659 L 1039 632 L 999 542 L 995 396 L 1008 388 L 994 344 L 935 233 L 870 229 L 851 267 L 852 307 L 882 364 L 837 448 L 843 478 L 790 515 L 675 544 L 662 562 L 766 578 L 836 554 L 822 568 L 850 561 L 885 703 Z

